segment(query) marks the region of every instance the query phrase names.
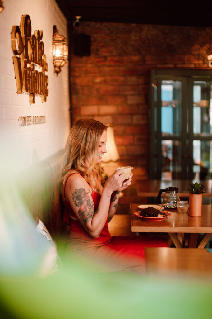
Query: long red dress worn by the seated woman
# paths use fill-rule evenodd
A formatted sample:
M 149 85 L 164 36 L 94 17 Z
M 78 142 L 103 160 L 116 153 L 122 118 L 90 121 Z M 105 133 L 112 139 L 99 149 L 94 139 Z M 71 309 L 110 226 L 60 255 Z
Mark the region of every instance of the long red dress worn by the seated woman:
M 94 202 L 94 210 L 96 210 L 101 195 L 93 190 L 91 197 Z M 133 271 L 143 274 L 145 271 L 145 247 L 168 247 L 166 240 L 157 237 L 111 236 L 107 221 L 99 237 L 93 238 L 86 232 L 78 219 L 70 219 L 70 216 L 76 218 L 71 205 L 65 199 L 64 221 L 70 225 L 67 247 L 78 256 L 86 259 L 88 263 L 95 261 L 100 271 Z

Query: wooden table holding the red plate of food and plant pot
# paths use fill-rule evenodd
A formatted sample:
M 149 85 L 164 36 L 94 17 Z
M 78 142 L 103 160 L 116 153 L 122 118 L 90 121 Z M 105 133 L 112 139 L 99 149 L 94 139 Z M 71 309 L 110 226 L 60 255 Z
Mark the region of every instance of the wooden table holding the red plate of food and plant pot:
M 162 221 L 146 221 L 135 216 L 138 204 L 131 204 L 131 230 L 136 233 L 167 233 L 177 248 L 204 248 L 212 236 L 212 205 L 202 205 L 200 217 L 188 216 L 177 209 L 169 209 L 171 216 Z M 203 234 L 197 246 L 198 234 Z M 182 236 L 179 236 L 181 234 Z M 185 234 L 185 236 L 184 236 Z

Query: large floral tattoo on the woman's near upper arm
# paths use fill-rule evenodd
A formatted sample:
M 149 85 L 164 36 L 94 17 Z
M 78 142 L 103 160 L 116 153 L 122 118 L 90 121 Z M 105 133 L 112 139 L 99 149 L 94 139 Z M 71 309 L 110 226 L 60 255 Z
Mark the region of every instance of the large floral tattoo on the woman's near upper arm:
M 83 226 L 85 226 L 94 215 L 94 202 L 90 200 L 88 194 L 89 192 L 86 193 L 82 187 L 80 189 L 74 189 L 74 192 L 71 194 L 74 206 L 79 207 L 78 214 Z M 95 213 L 97 212 L 98 209 Z

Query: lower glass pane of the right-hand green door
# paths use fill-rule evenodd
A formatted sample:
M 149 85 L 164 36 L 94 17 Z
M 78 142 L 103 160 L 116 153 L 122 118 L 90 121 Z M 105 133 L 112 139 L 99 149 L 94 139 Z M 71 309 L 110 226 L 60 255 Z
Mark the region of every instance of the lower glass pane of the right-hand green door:
M 212 141 L 193 141 L 194 179 L 210 179 L 212 173 Z

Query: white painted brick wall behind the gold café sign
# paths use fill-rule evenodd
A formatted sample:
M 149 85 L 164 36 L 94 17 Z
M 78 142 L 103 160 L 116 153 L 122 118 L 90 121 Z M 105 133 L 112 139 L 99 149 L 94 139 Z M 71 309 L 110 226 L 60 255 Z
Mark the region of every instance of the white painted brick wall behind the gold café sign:
M 32 33 L 43 30 L 44 54 L 48 63 L 49 94 L 42 103 L 35 96 L 17 94 L 12 62 L 11 29 L 20 25 L 21 16 L 31 18 Z M 12 165 L 15 171 L 45 159 L 62 149 L 70 129 L 68 66 L 56 76 L 53 68 L 53 25 L 67 38 L 67 21 L 54 0 L 4 0 L 0 13 L 0 164 Z M 20 127 L 19 116 L 45 115 L 46 123 Z

